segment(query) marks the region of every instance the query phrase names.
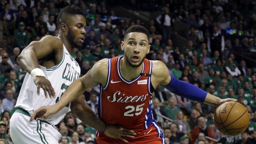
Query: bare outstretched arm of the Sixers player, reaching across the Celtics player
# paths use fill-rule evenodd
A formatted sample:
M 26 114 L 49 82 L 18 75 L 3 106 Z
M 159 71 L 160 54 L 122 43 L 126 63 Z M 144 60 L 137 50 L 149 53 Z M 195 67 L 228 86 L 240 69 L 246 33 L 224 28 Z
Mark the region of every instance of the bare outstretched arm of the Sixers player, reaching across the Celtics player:
M 56 104 L 43 106 L 37 109 L 33 113 L 31 120 L 33 120 L 34 118 L 45 119 L 48 116 L 57 113 L 63 107 L 65 107 L 65 105 L 73 102 L 79 96 L 81 96 L 85 89 L 93 88 L 99 85 L 101 83 L 100 81 L 102 81 L 101 79 L 107 78 L 107 74 L 108 60 L 102 59 L 95 63 L 95 65 L 93 65 L 93 68 L 91 68 L 91 70 L 89 70 L 84 76 L 72 82 Z M 42 114 L 43 110 L 45 110 L 45 113 Z

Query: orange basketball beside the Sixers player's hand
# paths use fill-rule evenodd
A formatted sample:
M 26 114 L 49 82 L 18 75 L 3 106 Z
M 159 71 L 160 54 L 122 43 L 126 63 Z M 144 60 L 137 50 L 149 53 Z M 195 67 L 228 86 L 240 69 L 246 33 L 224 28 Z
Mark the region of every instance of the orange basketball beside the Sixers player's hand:
M 225 102 L 215 111 L 214 124 L 217 129 L 228 136 L 243 133 L 249 125 L 249 113 L 245 106 L 238 102 Z

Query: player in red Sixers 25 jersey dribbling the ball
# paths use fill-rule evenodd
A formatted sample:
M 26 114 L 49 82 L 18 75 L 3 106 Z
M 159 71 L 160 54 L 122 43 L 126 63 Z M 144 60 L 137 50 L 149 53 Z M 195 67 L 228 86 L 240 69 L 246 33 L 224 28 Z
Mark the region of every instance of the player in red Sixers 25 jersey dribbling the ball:
M 143 26 L 128 28 L 121 44 L 124 57 L 98 61 L 87 74 L 69 86 L 58 103 L 39 108 L 31 120 L 55 114 L 76 100 L 86 88 L 100 85 L 98 115 L 106 124 L 117 124 L 135 131 L 135 138 L 127 138 L 130 144 L 163 144 L 163 131 L 152 116 L 152 93 L 159 83 L 179 96 L 215 107 L 223 102 L 235 101 L 221 100 L 194 85 L 179 81 L 169 75 L 167 66 L 161 61 L 145 59 L 150 51 L 148 40 L 149 33 Z M 99 144 L 123 143 L 106 137 L 100 131 L 96 133 L 96 140 Z

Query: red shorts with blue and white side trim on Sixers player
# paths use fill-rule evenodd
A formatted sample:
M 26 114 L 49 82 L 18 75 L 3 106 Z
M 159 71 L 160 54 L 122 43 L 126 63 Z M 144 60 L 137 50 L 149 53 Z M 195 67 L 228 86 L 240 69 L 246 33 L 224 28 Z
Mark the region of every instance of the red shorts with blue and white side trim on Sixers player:
M 146 130 L 136 133 L 135 138 L 123 138 L 129 142 L 128 144 L 165 144 L 163 131 L 156 124 L 151 124 Z M 96 141 L 98 144 L 126 144 L 119 139 L 109 138 L 99 131 L 96 132 Z

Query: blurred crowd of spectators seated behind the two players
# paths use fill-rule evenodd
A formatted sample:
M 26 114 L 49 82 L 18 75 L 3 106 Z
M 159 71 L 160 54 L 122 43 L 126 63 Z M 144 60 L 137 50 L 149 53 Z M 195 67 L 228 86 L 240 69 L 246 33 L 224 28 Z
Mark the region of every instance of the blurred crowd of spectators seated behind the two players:
M 113 4 L 115 0 L 109 2 Z M 139 24 L 150 32 L 147 59 L 162 61 L 177 79 L 219 98 L 236 98 L 249 111 L 247 130 L 227 137 L 214 126 L 215 108 L 177 96 L 158 85 L 152 112 L 164 130 L 167 144 L 256 143 L 255 63 L 232 53 L 256 55 L 256 1 L 134 0 L 128 4 L 143 10 L 150 7 L 162 14 L 143 23 L 140 19 L 117 17 L 108 0 L 0 0 L 4 37 L 15 37 L 11 50 L 10 46 L 0 45 L 0 144 L 13 144 L 9 119 L 15 112 L 15 100 L 26 75 L 17 56 L 31 41 L 39 41 L 45 35 L 57 36 L 57 14 L 68 5 L 79 6 L 87 20 L 85 42 L 72 52 L 81 67 L 81 76 L 100 59 L 122 56 L 125 30 Z M 190 26 L 189 32 L 176 31 L 177 21 Z M 186 38 L 186 46 L 177 47 L 172 35 Z M 86 103 L 96 114 L 99 94 L 100 87 L 84 92 Z M 60 144 L 96 143 L 95 130 L 82 125 L 71 112 L 57 127 L 62 135 Z

